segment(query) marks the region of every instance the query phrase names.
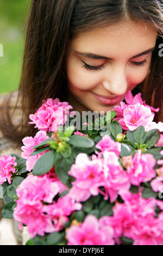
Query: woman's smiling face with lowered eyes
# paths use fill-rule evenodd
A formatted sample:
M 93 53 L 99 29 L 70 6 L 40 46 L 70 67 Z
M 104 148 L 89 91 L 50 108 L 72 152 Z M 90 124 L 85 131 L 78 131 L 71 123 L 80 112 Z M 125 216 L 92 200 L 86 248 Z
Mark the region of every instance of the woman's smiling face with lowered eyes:
M 94 29 L 71 41 L 67 78 L 73 109 L 107 112 L 147 76 L 156 31 L 143 23 Z

